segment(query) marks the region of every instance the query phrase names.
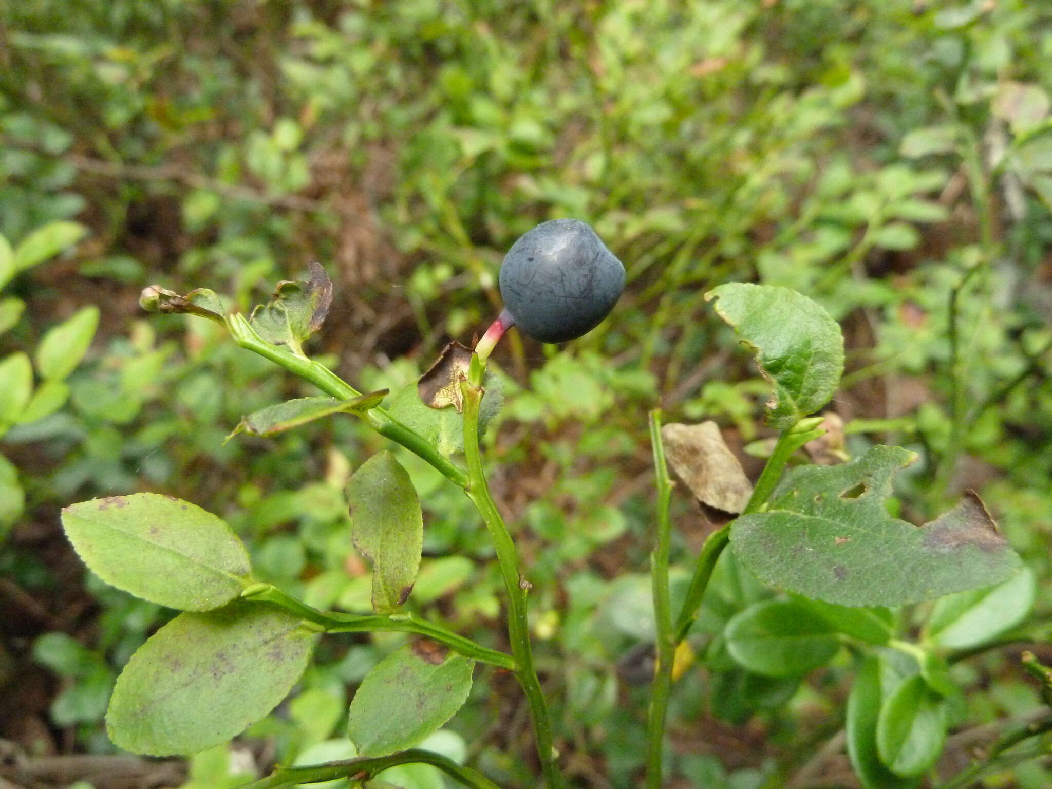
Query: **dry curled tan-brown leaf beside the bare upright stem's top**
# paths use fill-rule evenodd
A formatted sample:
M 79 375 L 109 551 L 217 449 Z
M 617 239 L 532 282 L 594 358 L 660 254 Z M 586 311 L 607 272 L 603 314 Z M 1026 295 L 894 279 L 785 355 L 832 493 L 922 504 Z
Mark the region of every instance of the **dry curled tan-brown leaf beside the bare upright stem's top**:
M 727 446 L 715 422 L 662 427 L 665 457 L 702 504 L 737 514 L 752 495 L 752 484 Z

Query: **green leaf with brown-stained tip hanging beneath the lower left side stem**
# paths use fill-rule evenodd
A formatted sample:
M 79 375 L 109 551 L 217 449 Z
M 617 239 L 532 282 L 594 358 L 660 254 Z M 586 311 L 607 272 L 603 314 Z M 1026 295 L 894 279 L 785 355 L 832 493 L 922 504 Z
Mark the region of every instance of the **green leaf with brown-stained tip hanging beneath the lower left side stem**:
M 467 701 L 474 661 L 430 644 L 402 647 L 378 663 L 350 703 L 347 735 L 362 756 L 411 748 Z

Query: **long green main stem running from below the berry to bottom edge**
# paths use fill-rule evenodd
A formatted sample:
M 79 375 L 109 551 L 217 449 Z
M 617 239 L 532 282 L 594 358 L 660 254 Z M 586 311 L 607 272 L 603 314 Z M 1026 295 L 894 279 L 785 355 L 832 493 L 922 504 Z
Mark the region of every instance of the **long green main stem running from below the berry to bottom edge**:
M 533 719 L 537 752 L 541 760 L 545 783 L 549 789 L 559 789 L 563 786 L 563 778 L 555 765 L 557 753 L 551 721 L 548 717 L 548 707 L 541 690 L 541 682 L 533 666 L 533 650 L 530 646 L 526 613 L 526 591 L 529 589 L 529 583 L 522 574 L 515 544 L 489 492 L 486 472 L 482 466 L 482 453 L 479 449 L 479 409 L 484 393 L 482 388 L 484 371 L 485 362 L 477 355 L 472 355 L 468 380 L 461 383 L 464 399 L 464 456 L 467 458 L 468 473 L 465 492 L 482 515 L 497 550 L 497 560 L 501 565 L 504 587 L 508 594 L 508 640 L 511 642 L 511 654 L 517 665 L 515 677 L 526 694 Z

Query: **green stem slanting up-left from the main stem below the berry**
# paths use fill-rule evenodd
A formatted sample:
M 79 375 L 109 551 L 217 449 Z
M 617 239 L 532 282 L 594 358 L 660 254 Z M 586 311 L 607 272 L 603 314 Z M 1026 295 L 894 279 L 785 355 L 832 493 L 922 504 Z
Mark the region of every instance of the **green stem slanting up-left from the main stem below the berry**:
M 227 326 L 242 348 L 259 353 L 289 372 L 309 381 L 329 397 L 351 400 L 361 396 L 360 391 L 325 365 L 266 342 L 249 325 L 244 316 L 237 313 L 229 316 Z M 420 433 L 399 422 L 384 408 L 370 408 L 360 416 L 373 430 L 427 461 L 454 484 L 460 487 L 467 485 L 467 473 L 463 468 L 452 463 Z

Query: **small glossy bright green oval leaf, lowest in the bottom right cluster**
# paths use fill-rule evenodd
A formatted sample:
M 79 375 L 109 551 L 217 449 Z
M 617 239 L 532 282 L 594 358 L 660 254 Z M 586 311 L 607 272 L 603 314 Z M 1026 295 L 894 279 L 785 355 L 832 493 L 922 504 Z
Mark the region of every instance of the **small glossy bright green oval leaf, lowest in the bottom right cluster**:
M 881 705 L 876 749 L 896 775 L 914 777 L 931 767 L 943 750 L 946 721 L 939 697 L 924 677 L 911 676 Z

